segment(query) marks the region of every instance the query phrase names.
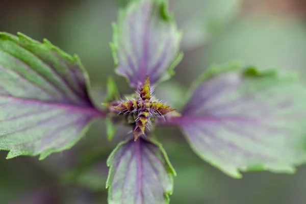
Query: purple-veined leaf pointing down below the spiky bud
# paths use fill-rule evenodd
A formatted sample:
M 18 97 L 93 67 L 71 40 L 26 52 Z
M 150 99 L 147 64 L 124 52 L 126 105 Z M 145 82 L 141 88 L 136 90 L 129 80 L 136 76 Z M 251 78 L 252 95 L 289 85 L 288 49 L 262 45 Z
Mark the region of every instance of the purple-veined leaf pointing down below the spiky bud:
M 169 203 L 175 171 L 161 144 L 143 138 L 121 142 L 107 164 L 109 203 Z

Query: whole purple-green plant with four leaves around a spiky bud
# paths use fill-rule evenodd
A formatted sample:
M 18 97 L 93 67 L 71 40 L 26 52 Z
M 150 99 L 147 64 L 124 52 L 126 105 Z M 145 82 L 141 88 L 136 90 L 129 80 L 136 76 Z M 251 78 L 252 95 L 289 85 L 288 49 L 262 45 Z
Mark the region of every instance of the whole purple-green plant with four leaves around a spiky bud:
M 196 154 L 224 173 L 294 172 L 304 163 L 306 90 L 276 71 L 225 64 L 212 66 L 191 86 L 182 111 L 152 95 L 174 75 L 183 55 L 181 33 L 163 0 L 135 0 L 113 25 L 116 73 L 135 94 L 120 99 L 108 82 L 104 110 L 92 102 L 88 76 L 77 56 L 49 41 L 0 34 L 0 149 L 8 159 L 44 159 L 71 148 L 93 120 L 131 134 L 108 158 L 109 203 L 168 203 L 175 170 L 154 137 L 157 125 L 176 125 Z

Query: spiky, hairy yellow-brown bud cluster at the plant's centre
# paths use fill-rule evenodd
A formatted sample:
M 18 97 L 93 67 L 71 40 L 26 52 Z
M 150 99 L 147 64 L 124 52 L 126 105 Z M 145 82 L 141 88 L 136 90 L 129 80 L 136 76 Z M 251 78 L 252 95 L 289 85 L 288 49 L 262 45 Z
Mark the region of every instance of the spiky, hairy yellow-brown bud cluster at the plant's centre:
M 140 89 L 136 91 L 138 96 L 133 100 L 126 100 L 113 108 L 122 114 L 129 114 L 133 119 L 133 134 L 135 141 L 144 134 L 145 127 L 151 124 L 151 118 L 163 116 L 176 109 L 152 99 L 150 81 L 148 76 Z

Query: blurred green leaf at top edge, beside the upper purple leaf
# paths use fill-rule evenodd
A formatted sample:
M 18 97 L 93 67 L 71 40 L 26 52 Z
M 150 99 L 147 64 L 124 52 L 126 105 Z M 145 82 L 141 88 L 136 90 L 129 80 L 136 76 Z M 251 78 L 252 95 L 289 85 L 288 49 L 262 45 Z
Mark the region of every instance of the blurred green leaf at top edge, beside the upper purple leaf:
M 123 8 L 133 0 L 117 0 Z M 183 31 L 182 48 L 192 49 L 216 37 L 241 10 L 241 0 L 169 0 L 177 27 Z

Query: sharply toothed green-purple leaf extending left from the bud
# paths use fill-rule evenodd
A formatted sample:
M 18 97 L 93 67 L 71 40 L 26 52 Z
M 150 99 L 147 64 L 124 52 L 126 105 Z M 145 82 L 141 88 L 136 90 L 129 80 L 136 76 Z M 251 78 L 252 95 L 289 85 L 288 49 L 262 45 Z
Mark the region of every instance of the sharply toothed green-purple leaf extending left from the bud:
M 0 33 L 0 149 L 40 159 L 73 146 L 104 113 L 77 56 L 49 41 Z

